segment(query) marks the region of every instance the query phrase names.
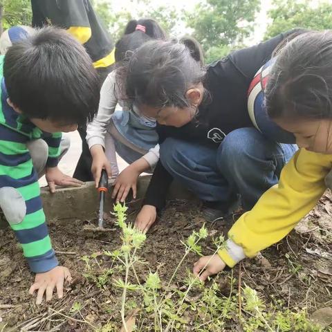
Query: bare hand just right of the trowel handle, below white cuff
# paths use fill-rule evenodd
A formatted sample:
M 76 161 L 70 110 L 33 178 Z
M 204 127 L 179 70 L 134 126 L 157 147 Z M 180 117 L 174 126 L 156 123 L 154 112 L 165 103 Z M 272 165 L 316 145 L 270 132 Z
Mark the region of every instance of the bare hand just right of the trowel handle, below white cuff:
M 116 198 L 116 202 L 123 203 L 129 194 L 129 190 L 133 190 L 133 199 L 136 199 L 136 184 L 139 175 L 140 172 L 133 165 L 127 166 L 116 178 L 112 199 Z

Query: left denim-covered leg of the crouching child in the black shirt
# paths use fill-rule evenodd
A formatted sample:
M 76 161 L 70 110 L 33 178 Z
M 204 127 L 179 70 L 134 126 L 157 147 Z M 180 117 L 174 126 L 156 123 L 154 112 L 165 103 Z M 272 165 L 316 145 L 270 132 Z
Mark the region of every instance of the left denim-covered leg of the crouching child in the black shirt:
M 160 145 L 160 161 L 176 181 L 203 201 L 228 201 L 230 190 L 216 165 L 216 149 L 167 138 Z

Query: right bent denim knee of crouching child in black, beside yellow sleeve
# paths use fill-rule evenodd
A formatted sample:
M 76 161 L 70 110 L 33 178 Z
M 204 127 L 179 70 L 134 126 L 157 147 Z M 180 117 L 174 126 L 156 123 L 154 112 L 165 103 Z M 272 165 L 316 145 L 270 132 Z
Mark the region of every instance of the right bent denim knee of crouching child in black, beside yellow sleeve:
M 241 128 L 225 137 L 216 164 L 232 192 L 241 195 L 243 208 L 250 210 L 279 181 L 282 168 L 295 151 L 296 145 L 273 142 L 257 129 Z

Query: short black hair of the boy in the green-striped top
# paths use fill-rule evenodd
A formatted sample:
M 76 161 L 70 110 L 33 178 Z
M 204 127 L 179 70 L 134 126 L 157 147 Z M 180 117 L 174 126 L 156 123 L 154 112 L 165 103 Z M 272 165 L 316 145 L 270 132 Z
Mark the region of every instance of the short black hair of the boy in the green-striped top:
M 13 44 L 3 76 L 10 101 L 28 118 L 85 125 L 98 111 L 98 75 L 65 30 L 42 28 Z

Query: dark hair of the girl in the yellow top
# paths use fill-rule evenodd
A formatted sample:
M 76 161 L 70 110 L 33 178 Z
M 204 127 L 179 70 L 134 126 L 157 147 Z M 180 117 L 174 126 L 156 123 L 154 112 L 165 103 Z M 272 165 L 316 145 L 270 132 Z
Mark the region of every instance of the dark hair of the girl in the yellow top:
M 303 33 L 286 44 L 265 92 L 271 118 L 332 118 L 332 31 Z

